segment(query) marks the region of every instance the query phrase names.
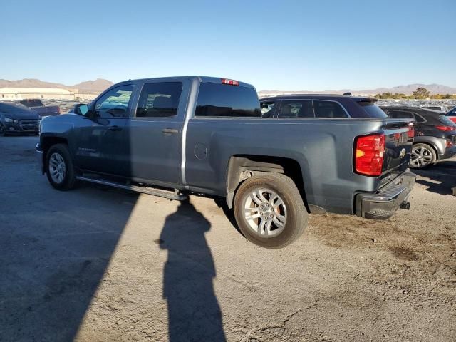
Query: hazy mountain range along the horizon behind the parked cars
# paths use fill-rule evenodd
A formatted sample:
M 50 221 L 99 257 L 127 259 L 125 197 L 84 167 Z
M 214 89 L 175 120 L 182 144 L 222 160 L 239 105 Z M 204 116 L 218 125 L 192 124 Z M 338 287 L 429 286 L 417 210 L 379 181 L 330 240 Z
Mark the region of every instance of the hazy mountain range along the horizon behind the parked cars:
M 61 83 L 52 83 L 41 81 L 36 78 L 24 78 L 23 80 L 9 81 L 0 79 L 0 88 L 63 88 L 63 89 L 78 89 L 79 91 L 100 93 L 106 88 L 112 86 L 114 83 L 103 78 L 97 78 L 94 81 L 85 81 L 73 86 L 66 86 Z M 353 95 L 375 95 L 378 93 L 403 93 L 405 95 L 412 94 L 416 88 L 426 88 L 431 94 L 456 94 L 456 88 L 442 86 L 441 84 L 422 84 L 414 83 L 405 86 L 396 86 L 393 88 L 375 88 L 369 90 L 322 90 L 322 91 L 289 91 L 289 90 L 261 90 L 259 95 L 279 95 L 279 94 L 299 94 L 299 93 L 322 93 L 322 94 L 343 94 L 350 92 Z

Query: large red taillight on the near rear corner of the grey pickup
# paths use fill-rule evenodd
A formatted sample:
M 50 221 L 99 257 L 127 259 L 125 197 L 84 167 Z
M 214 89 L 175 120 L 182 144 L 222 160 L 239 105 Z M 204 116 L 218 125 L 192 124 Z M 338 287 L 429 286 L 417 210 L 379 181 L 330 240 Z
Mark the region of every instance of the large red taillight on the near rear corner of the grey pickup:
M 385 135 L 365 135 L 355 141 L 355 172 L 361 175 L 380 176 L 385 154 Z

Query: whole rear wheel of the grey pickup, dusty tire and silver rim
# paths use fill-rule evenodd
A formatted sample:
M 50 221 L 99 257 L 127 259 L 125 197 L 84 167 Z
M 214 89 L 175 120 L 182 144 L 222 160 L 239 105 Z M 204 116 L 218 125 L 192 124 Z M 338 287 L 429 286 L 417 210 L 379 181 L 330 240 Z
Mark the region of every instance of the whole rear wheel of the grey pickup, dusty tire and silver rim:
M 234 216 L 244 237 L 278 249 L 294 242 L 307 227 L 307 211 L 291 178 L 276 173 L 245 180 L 234 197 Z

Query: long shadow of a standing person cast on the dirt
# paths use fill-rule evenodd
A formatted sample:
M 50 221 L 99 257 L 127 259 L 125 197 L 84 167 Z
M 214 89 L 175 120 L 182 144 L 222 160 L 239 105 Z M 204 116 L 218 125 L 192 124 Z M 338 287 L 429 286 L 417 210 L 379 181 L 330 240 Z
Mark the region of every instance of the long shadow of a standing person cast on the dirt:
M 214 293 L 214 260 L 204 234 L 211 224 L 190 202 L 167 217 L 160 248 L 168 256 L 163 272 L 171 342 L 226 341 L 222 311 Z

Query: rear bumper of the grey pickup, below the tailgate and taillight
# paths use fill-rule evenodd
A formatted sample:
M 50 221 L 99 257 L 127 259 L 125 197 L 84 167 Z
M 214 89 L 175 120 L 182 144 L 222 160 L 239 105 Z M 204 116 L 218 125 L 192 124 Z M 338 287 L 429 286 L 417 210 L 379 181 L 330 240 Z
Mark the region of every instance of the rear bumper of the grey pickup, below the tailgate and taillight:
M 377 192 L 356 195 L 356 215 L 366 219 L 389 219 L 400 207 L 408 209 L 415 177 L 407 170 Z

